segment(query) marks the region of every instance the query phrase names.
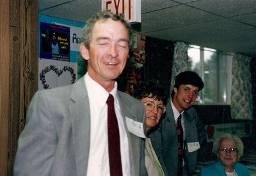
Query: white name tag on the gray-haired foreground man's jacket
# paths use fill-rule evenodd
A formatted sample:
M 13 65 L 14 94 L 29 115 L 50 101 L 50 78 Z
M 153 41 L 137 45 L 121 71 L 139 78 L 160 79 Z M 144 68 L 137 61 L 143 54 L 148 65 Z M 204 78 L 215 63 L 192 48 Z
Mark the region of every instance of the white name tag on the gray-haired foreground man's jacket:
M 128 130 L 140 138 L 145 138 L 143 123 L 132 120 L 129 117 L 125 117 Z

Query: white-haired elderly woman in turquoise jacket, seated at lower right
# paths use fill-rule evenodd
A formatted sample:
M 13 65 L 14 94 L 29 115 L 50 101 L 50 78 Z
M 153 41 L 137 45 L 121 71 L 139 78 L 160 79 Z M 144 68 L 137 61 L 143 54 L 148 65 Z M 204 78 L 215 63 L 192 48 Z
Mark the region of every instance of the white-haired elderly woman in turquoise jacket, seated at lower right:
M 212 152 L 218 156 L 217 163 L 205 166 L 200 170 L 200 176 L 248 176 L 250 172 L 246 166 L 237 163 L 243 156 L 242 140 L 229 133 L 223 133 L 213 143 Z

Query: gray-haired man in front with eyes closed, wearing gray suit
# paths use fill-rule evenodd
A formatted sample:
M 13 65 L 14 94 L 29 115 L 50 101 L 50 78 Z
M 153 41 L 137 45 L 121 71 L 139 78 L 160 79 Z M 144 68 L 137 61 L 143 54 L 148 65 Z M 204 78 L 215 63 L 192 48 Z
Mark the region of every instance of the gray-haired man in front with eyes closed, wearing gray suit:
M 117 91 L 132 47 L 132 29 L 122 15 L 99 12 L 83 29 L 81 55 L 88 72 L 75 84 L 36 92 L 19 137 L 15 175 L 110 175 L 109 94 L 120 133 L 122 175 L 147 175 L 145 106 Z

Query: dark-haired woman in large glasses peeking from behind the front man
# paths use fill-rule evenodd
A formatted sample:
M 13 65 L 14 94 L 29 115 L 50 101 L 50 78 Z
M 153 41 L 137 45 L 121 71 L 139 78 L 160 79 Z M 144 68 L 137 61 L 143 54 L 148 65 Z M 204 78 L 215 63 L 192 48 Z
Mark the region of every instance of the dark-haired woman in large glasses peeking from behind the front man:
M 163 87 L 155 82 L 141 82 L 134 91 L 134 97 L 140 99 L 146 108 L 146 134 L 150 129 L 156 128 L 161 116 L 166 111 L 166 94 Z M 148 176 L 164 175 L 163 169 L 157 159 L 156 153 L 146 136 L 145 164 Z

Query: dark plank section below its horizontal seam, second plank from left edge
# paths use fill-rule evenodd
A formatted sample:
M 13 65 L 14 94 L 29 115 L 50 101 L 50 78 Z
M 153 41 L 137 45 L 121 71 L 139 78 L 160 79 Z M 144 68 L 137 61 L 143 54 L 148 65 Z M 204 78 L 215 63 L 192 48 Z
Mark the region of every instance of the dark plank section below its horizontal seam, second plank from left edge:
M 18 51 L 18 52 L 17 52 Z M 12 175 L 19 130 L 20 112 L 20 28 L 10 27 L 10 103 L 9 103 L 9 141 L 8 172 Z

